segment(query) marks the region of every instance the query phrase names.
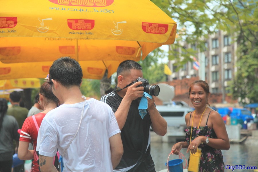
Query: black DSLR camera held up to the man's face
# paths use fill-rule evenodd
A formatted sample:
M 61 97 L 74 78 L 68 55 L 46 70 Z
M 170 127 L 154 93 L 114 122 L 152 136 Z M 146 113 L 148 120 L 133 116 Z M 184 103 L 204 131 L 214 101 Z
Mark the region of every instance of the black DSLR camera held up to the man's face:
M 154 96 L 159 95 L 159 91 L 160 91 L 159 85 L 149 85 L 149 81 L 141 77 L 138 77 L 138 79 L 136 79 L 136 81 L 134 81 L 133 83 L 136 83 L 138 81 L 141 81 L 142 84 L 138 85 L 137 87 L 143 87 L 144 92 L 148 93 L 149 95 L 154 95 Z

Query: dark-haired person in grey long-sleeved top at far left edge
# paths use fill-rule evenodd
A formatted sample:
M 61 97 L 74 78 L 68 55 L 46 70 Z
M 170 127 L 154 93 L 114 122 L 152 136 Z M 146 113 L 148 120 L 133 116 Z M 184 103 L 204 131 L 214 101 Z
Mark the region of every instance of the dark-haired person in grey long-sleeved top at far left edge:
M 19 146 L 18 122 L 13 116 L 6 115 L 7 101 L 0 98 L 0 171 L 11 172 L 13 164 L 13 141 L 15 151 Z

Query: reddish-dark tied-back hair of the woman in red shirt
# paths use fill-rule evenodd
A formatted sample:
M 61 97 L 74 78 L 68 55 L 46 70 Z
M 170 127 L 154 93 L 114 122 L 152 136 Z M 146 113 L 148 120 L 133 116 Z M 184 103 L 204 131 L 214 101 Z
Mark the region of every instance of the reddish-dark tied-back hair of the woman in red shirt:
M 56 103 L 56 106 L 58 106 L 59 100 L 56 98 L 56 96 L 52 92 L 52 85 L 50 82 L 45 82 L 41 85 L 39 93 L 46 97 L 48 102 Z

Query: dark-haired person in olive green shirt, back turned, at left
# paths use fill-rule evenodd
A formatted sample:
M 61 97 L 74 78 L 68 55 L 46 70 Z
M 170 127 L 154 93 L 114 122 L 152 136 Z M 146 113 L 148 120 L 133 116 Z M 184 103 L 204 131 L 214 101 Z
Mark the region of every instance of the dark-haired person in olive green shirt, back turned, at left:
M 9 101 L 11 103 L 11 107 L 7 110 L 7 115 L 13 116 L 18 124 L 19 129 L 21 129 L 22 124 L 27 118 L 29 110 L 26 107 L 19 106 L 19 101 L 21 100 L 21 93 L 17 91 L 13 91 L 10 93 Z

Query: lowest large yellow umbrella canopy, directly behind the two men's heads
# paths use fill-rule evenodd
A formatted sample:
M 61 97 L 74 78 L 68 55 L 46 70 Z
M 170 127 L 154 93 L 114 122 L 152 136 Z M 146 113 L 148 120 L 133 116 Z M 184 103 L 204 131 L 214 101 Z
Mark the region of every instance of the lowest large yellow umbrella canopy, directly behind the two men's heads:
M 79 63 L 83 69 L 83 78 L 101 79 L 106 69 L 108 70 L 109 77 L 115 73 L 120 61 L 79 60 Z M 21 63 L 0 62 L 0 79 L 17 79 L 24 77 L 45 78 L 48 75 L 51 64 L 52 61 Z

